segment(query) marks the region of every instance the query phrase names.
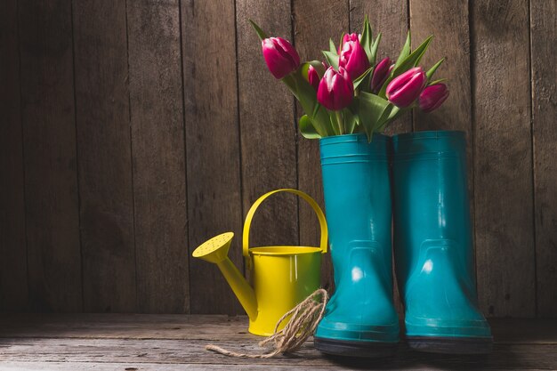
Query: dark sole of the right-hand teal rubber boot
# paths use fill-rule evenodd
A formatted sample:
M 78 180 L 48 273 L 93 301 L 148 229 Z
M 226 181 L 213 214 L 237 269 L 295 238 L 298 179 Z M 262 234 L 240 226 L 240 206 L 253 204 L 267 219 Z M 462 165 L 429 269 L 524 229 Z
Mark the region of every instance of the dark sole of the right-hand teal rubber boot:
M 493 338 L 410 336 L 408 346 L 415 351 L 442 354 L 486 354 L 493 350 Z

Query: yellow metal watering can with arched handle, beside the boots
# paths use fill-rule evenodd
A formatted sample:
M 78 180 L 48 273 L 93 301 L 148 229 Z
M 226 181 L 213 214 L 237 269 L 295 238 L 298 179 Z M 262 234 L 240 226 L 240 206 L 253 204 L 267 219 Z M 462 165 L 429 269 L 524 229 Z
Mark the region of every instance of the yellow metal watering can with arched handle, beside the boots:
M 300 196 L 317 214 L 321 227 L 320 247 L 265 246 L 249 247 L 249 227 L 262 202 L 278 192 Z M 300 190 L 272 190 L 255 201 L 244 223 L 243 250 L 246 267 L 253 270 L 254 287 L 238 271 L 228 257 L 234 233 L 222 233 L 209 239 L 193 252 L 193 256 L 214 262 L 222 271 L 234 294 L 249 317 L 249 332 L 272 335 L 278 319 L 319 288 L 321 254 L 327 253 L 327 222 L 319 205 Z M 283 324 L 286 324 L 283 321 Z M 278 329 L 284 327 L 278 327 Z

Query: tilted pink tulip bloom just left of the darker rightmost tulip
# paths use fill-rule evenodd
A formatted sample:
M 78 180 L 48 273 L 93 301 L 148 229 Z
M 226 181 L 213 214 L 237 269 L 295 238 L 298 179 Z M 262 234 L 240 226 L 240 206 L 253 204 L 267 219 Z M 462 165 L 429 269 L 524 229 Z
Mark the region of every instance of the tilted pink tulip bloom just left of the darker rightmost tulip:
M 422 93 L 425 83 L 427 83 L 427 77 L 421 67 L 408 69 L 387 85 L 387 98 L 395 106 L 404 109 L 416 101 Z

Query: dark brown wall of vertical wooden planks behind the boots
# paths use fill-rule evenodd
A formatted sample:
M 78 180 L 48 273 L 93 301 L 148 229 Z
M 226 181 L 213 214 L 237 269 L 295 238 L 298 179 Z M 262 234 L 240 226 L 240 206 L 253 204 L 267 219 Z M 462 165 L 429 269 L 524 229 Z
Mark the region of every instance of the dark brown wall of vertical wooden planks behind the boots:
M 242 313 L 191 259 L 281 187 L 322 205 L 319 143 L 247 23 L 319 59 L 369 15 L 379 56 L 435 35 L 451 96 L 388 133 L 464 130 L 480 307 L 557 316 L 556 2 L 5 0 L 0 5 L 0 311 Z M 311 209 L 278 195 L 252 241 L 317 245 Z M 332 285 L 327 259 L 323 283 Z M 396 290 L 395 290 L 396 291 Z M 395 292 L 395 296 L 397 296 Z

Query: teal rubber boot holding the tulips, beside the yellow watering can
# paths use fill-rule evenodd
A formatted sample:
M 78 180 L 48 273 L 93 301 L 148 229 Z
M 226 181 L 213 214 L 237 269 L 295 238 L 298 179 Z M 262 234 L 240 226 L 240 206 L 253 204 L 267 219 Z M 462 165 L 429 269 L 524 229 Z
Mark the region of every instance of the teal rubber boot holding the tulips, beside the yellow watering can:
M 399 317 L 392 302 L 390 138 L 364 134 L 320 140 L 335 294 L 314 342 L 324 353 L 392 355 Z

